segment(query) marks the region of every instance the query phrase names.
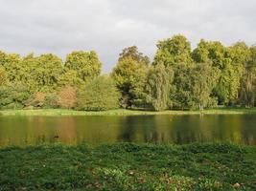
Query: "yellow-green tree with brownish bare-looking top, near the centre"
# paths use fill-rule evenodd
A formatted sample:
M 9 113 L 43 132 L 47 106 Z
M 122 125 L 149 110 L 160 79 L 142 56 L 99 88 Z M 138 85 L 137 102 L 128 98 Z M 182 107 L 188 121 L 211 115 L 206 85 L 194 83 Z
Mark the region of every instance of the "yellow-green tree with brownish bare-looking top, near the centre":
M 120 55 L 112 76 L 117 88 L 122 93 L 122 106 L 128 108 L 138 100 L 143 102 L 145 99 L 144 88 L 149 71 L 149 62 L 146 61 L 148 60 L 147 56 L 138 53 L 134 47 L 125 49 Z

